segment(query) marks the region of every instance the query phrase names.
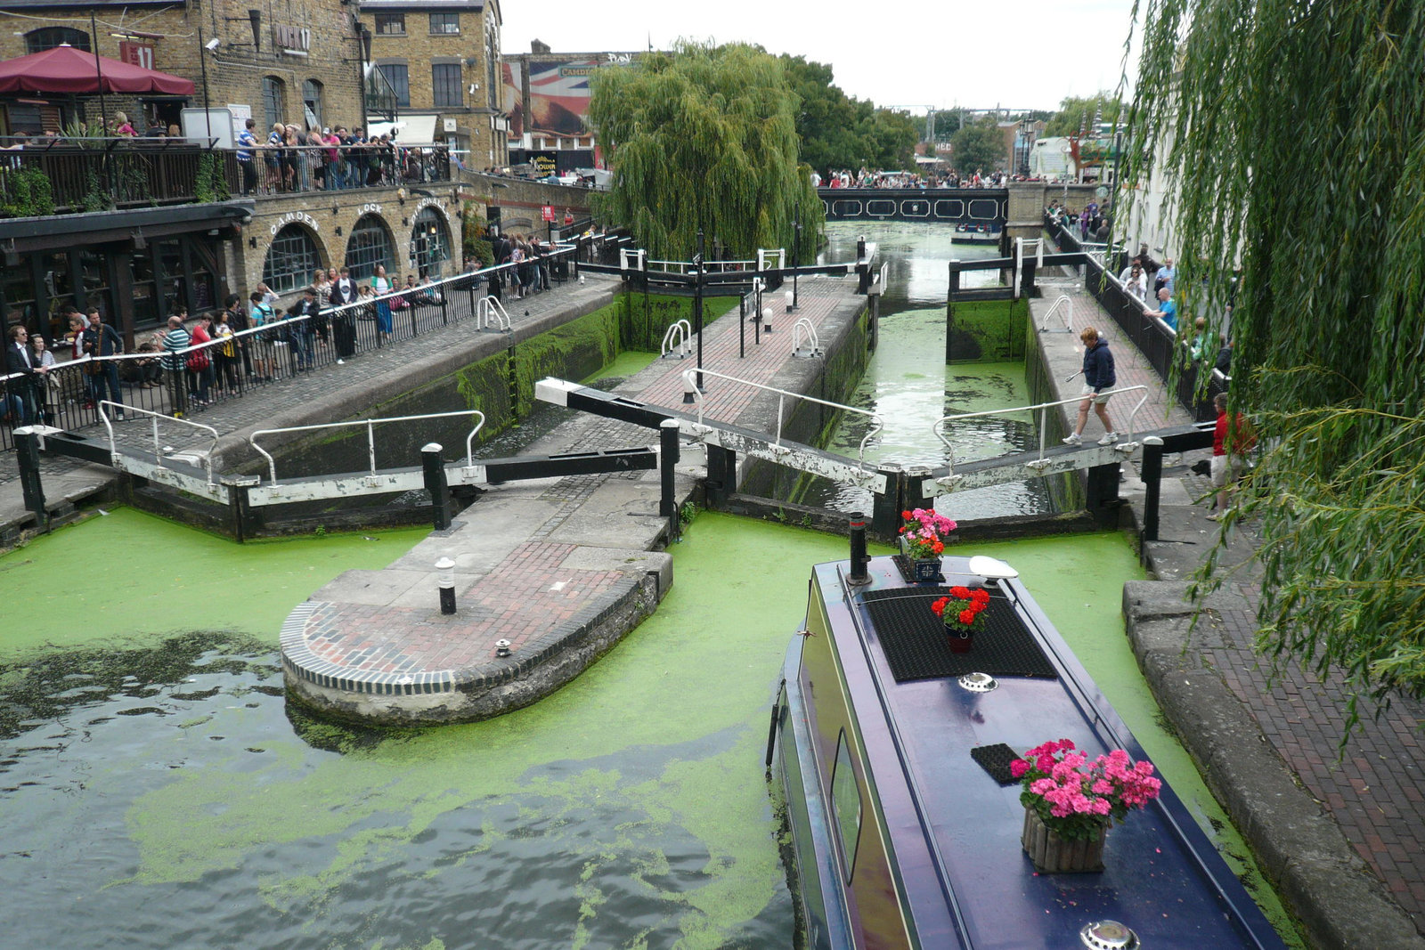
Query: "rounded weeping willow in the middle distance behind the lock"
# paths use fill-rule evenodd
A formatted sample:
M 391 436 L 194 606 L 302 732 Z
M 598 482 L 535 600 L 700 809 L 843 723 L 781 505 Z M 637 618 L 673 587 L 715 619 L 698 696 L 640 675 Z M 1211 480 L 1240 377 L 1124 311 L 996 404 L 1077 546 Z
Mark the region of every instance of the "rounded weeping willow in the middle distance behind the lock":
M 801 205 L 801 262 L 824 214 L 798 165 L 797 97 L 782 64 L 750 46 L 680 44 L 594 74 L 589 118 L 614 172 L 596 195 L 607 222 L 656 258 L 691 258 L 697 234 L 732 258 L 788 248 Z

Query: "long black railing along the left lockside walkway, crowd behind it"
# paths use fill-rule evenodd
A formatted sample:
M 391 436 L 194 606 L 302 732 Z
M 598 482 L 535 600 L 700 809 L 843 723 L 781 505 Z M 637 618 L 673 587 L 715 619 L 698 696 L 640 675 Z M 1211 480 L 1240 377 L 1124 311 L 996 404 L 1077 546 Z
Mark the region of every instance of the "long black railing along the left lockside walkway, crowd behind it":
M 94 426 L 100 400 L 192 416 L 311 369 L 439 332 L 490 310 L 480 301 L 500 299 L 510 272 L 519 266 L 534 292 L 561 286 L 574 252 L 573 246 L 560 246 L 524 265 L 504 263 L 361 298 L 316 318 L 294 316 L 177 352 L 164 352 L 154 339 L 138 353 L 57 363 L 34 383 L 20 375 L 0 376 L 0 450 L 14 449 L 13 429 L 19 424 L 43 422 L 66 430 Z M 490 329 L 500 329 L 500 320 L 492 320 Z

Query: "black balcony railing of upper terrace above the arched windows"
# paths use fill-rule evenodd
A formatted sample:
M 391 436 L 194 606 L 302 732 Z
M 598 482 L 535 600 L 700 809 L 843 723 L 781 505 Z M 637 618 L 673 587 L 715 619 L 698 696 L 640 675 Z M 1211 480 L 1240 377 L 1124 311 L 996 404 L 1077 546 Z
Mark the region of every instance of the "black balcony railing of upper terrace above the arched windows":
M 0 218 L 450 179 L 446 145 L 231 150 L 180 138 L 11 138 L 0 145 L 7 145 L 0 148 Z

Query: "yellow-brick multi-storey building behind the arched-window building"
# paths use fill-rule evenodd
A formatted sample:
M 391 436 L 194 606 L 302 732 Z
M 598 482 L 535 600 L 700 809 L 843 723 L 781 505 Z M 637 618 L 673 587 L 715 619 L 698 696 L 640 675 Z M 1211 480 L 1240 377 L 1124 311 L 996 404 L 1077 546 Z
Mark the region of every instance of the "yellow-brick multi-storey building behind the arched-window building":
M 362 0 L 361 14 L 372 30 L 372 63 L 396 94 L 399 141 L 446 142 L 472 169 L 507 164 L 500 4 Z

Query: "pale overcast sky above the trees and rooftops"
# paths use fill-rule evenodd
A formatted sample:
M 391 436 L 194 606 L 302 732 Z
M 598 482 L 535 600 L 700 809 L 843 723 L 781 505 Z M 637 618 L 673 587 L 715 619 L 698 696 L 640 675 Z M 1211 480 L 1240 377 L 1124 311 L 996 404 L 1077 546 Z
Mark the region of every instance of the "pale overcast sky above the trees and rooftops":
M 921 113 L 1052 110 L 1066 95 L 1114 90 L 1133 0 L 509 0 L 502 10 L 506 54 L 529 53 L 534 38 L 554 53 L 668 48 L 680 37 L 747 41 L 829 63 L 846 95 Z

